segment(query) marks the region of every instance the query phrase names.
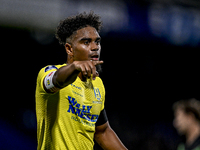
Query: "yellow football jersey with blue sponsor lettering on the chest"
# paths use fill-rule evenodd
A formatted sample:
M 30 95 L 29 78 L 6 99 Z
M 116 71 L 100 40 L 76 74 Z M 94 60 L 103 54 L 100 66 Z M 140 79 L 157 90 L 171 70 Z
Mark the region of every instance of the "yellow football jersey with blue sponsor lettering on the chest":
M 47 74 L 64 65 L 46 66 L 37 77 L 38 150 L 92 150 L 95 123 L 104 109 L 105 89 L 97 77 L 76 80 L 51 94 L 43 87 Z

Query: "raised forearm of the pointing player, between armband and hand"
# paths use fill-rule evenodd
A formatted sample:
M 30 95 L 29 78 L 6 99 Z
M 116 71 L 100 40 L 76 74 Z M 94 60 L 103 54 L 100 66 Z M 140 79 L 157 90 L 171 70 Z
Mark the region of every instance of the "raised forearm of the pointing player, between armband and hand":
M 71 83 L 73 83 L 80 71 L 75 69 L 75 65 L 69 64 L 67 66 L 58 69 L 53 77 L 54 85 L 63 88 Z

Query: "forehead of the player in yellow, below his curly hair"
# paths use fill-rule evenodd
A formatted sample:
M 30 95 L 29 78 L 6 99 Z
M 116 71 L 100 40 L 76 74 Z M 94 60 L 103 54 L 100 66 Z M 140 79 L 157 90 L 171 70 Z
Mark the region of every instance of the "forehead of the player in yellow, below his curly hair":
M 85 27 L 76 31 L 74 35 L 74 40 L 81 40 L 82 38 L 96 39 L 100 37 L 97 30 L 93 27 Z

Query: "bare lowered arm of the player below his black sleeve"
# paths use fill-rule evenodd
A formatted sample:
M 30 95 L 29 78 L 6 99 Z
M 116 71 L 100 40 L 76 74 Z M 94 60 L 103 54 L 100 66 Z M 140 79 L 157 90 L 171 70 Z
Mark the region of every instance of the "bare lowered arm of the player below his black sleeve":
M 104 150 L 127 150 L 110 127 L 103 133 L 96 133 L 95 140 Z

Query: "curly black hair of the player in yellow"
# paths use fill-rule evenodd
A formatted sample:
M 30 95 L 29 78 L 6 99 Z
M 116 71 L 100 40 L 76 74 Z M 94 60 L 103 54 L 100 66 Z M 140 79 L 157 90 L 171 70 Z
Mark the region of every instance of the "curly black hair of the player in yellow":
M 60 21 L 55 35 L 59 40 L 59 43 L 61 45 L 65 45 L 66 39 L 69 38 L 75 31 L 87 26 L 94 27 L 97 32 L 100 32 L 102 27 L 100 16 L 91 11 L 88 14 L 83 12 L 76 16 L 68 17 Z

